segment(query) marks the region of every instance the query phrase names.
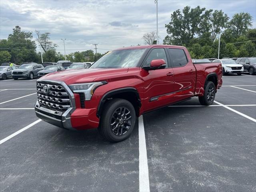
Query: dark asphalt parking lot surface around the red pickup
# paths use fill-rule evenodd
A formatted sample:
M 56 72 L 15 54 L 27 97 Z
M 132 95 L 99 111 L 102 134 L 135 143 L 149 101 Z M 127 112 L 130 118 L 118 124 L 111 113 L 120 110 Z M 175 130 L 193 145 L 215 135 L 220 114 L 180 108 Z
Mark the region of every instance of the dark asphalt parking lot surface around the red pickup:
M 134 192 L 142 182 L 151 192 L 256 191 L 256 76 L 224 76 L 215 98 L 224 106 L 195 97 L 144 114 L 148 181 L 140 123 L 110 143 L 97 130 L 36 122 L 35 88 L 36 79 L 0 81 L 0 191 Z

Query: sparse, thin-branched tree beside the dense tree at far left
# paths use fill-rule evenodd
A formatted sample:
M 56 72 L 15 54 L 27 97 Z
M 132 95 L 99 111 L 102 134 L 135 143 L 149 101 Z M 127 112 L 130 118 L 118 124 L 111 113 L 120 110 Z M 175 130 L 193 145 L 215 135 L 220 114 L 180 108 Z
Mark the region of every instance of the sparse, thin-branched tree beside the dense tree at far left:
M 46 53 L 48 50 L 55 50 L 56 44 L 54 44 L 52 41 L 50 41 L 50 33 L 46 32 L 41 34 L 40 31 L 36 30 L 36 40 L 44 50 L 44 53 Z

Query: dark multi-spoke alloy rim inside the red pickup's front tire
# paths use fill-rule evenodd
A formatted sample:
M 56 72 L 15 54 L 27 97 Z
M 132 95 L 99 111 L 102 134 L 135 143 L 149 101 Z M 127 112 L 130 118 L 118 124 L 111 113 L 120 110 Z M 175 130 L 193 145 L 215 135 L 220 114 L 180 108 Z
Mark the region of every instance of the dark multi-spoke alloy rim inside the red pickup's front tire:
M 111 117 L 110 126 L 112 133 L 116 136 L 122 136 L 127 133 L 131 126 L 131 113 L 126 107 L 118 108 Z

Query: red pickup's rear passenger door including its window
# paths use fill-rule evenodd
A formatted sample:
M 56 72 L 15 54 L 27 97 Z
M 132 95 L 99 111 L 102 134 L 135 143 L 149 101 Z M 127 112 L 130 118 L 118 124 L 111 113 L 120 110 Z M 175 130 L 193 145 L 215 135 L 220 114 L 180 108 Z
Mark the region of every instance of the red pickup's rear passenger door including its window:
M 173 100 L 180 101 L 194 96 L 196 88 L 196 68 L 185 48 L 168 48 L 174 71 Z

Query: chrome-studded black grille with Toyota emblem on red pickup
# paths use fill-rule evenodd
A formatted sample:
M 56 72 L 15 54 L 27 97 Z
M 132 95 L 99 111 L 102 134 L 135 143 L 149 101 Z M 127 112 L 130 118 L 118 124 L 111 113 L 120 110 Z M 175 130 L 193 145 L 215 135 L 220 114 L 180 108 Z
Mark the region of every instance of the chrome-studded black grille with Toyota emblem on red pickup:
M 38 103 L 48 109 L 66 111 L 70 108 L 68 93 L 60 84 L 37 83 Z

